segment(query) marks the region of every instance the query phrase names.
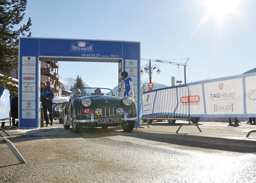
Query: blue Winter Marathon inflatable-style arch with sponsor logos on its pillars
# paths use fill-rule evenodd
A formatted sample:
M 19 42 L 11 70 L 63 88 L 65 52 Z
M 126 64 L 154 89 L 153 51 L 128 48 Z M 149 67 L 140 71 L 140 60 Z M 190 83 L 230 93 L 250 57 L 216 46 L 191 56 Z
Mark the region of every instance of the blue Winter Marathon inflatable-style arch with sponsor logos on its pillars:
M 122 95 L 121 72 L 127 71 L 134 85 L 134 101 L 137 104 L 137 110 L 140 110 L 140 42 L 20 37 L 20 128 L 41 127 L 41 60 L 119 63 L 118 79 L 116 79 L 119 86 L 119 96 Z M 139 121 L 135 123 L 135 126 L 140 124 Z

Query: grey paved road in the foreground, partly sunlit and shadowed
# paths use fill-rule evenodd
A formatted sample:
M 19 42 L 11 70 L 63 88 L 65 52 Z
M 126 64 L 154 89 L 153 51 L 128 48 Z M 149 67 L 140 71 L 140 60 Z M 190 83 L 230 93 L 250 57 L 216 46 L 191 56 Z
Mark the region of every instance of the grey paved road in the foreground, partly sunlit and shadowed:
M 175 134 L 177 124 L 153 123 L 131 133 L 115 127 L 75 134 L 55 121 L 39 130 L 12 130 L 9 140 L 27 163 L 0 144 L 0 182 L 255 183 L 256 135 L 244 134 L 256 126 L 199 126 L 202 133 L 182 127 Z

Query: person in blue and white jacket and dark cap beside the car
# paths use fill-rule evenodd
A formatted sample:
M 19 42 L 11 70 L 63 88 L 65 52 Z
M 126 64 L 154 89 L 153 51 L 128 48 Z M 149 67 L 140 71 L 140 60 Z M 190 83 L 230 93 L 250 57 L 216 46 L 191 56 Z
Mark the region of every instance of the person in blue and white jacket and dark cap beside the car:
M 124 96 L 128 96 L 133 98 L 134 97 L 134 89 L 133 89 L 133 85 L 132 85 L 132 80 L 131 78 L 128 76 L 128 73 L 126 71 L 123 71 L 121 73 L 121 78 L 123 81 L 122 84 L 122 91 L 124 92 Z

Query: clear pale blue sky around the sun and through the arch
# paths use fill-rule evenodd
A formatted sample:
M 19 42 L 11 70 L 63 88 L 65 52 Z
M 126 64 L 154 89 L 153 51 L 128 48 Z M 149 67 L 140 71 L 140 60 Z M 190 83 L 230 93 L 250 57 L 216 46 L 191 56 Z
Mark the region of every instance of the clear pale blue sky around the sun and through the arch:
M 225 14 L 222 20 L 211 16 L 203 21 L 209 13 L 203 0 L 28 0 L 24 21 L 31 17 L 32 37 L 139 41 L 142 58 L 189 58 L 187 80 L 195 82 L 256 67 L 255 8 L 255 0 L 240 0 L 237 12 Z M 161 74 L 154 71 L 152 81 L 168 86 L 171 76 L 184 81 L 183 67 L 180 78 L 177 65 L 155 64 Z M 94 86 L 118 84 L 117 63 L 59 65 L 62 78 L 79 74 Z

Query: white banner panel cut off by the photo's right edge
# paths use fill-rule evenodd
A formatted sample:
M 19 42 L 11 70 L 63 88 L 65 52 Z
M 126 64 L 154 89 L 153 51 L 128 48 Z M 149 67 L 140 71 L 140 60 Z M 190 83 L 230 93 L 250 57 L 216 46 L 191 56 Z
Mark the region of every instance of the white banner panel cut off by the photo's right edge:
M 256 76 L 245 78 L 247 114 L 256 114 Z

